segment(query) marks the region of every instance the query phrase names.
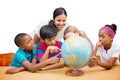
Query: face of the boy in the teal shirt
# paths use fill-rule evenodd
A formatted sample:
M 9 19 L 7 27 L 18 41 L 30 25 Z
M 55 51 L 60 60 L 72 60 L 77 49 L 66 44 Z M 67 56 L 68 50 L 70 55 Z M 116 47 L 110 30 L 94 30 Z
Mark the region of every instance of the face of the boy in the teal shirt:
M 26 36 L 23 38 L 21 48 L 22 48 L 23 50 L 28 50 L 28 51 L 33 50 L 33 48 L 34 48 L 34 43 L 33 43 L 32 38 L 31 38 L 29 35 L 26 35 Z

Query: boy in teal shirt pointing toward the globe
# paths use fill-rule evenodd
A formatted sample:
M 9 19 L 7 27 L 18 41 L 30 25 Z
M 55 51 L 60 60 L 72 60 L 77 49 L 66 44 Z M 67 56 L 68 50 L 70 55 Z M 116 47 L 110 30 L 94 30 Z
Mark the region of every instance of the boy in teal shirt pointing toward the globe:
M 5 72 L 6 74 L 13 74 L 24 70 L 35 72 L 48 64 L 54 64 L 59 61 L 57 57 L 54 57 L 36 64 L 36 46 L 33 44 L 31 37 L 26 33 L 16 35 L 14 42 L 19 49 L 14 54 L 10 66 L 16 68 L 8 69 Z

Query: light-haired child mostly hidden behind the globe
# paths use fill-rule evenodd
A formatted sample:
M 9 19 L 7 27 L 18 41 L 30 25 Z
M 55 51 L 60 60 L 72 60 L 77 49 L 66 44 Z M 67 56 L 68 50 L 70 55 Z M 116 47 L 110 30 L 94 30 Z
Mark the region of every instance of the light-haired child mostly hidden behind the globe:
M 91 40 L 87 37 L 85 32 L 78 30 L 75 26 L 68 26 L 64 31 L 63 38 L 64 38 L 64 40 L 66 40 L 68 37 L 74 36 L 74 35 L 78 35 L 78 36 L 81 36 L 82 38 L 86 38 L 91 43 L 91 46 L 93 48 L 93 44 L 92 44 Z

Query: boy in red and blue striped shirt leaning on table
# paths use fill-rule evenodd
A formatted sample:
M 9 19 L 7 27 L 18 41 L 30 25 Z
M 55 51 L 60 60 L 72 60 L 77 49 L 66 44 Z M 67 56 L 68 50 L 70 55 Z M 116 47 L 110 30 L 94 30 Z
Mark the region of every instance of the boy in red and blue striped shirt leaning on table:
M 53 25 L 44 25 L 40 29 L 40 36 L 43 39 L 37 47 L 37 62 L 44 62 L 45 60 L 58 56 L 59 62 L 56 64 L 47 65 L 42 70 L 55 69 L 64 66 L 64 61 L 60 54 L 62 42 L 56 41 L 57 30 Z

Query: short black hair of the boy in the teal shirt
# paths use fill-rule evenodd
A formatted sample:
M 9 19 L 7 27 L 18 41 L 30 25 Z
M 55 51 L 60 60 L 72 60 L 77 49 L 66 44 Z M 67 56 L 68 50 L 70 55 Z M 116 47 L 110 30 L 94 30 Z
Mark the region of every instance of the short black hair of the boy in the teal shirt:
M 19 33 L 14 38 L 14 43 L 20 47 L 22 45 L 23 38 L 27 35 L 27 33 Z

